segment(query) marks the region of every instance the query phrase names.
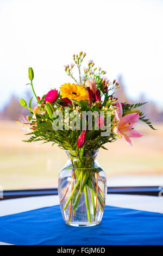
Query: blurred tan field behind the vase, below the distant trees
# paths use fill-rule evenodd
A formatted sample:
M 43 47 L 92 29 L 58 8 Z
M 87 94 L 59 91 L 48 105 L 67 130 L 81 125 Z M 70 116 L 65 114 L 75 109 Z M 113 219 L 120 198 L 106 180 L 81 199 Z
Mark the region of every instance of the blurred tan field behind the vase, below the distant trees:
M 142 138 L 133 138 L 133 147 L 122 139 L 101 149 L 98 161 L 109 177 L 117 175 L 163 174 L 163 124 L 157 131 L 137 124 Z M 66 163 L 66 153 L 51 144 L 24 143 L 21 126 L 12 121 L 0 122 L 0 185 L 4 190 L 56 187 L 60 169 Z M 140 176 L 141 177 L 141 176 Z

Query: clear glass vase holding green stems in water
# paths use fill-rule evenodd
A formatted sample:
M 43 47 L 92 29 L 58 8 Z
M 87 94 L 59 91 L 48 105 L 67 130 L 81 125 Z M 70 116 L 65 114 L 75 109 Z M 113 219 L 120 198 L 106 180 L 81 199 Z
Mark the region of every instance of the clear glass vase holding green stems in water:
M 98 225 L 106 198 L 106 176 L 96 156 L 99 150 L 66 150 L 59 174 L 59 200 L 64 221 L 76 227 Z

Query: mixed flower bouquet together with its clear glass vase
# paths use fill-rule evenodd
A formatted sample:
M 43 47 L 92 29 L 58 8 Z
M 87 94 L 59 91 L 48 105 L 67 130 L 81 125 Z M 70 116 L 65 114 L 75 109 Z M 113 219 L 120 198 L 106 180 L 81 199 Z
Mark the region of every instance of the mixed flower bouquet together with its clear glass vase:
M 55 143 L 66 150 L 68 161 L 59 174 L 59 199 L 62 216 L 69 225 L 91 226 L 101 222 L 106 197 L 106 176 L 96 156 L 104 144 L 123 138 L 131 145 L 131 137 L 141 137 L 133 126 L 151 121 L 137 108 L 143 103 L 129 104 L 114 96 L 119 88 L 116 80 L 110 82 L 106 72 L 96 68 L 93 60 L 82 69 L 86 53 L 73 55 L 73 64 L 65 71 L 74 80 L 51 89 L 42 97 L 33 87 L 34 72 L 28 70 L 37 105 L 32 109 L 23 99 L 20 103 L 29 109 L 30 115 L 21 116 L 21 123 L 29 131 L 25 142 L 44 141 Z M 73 75 L 74 67 L 79 78 Z

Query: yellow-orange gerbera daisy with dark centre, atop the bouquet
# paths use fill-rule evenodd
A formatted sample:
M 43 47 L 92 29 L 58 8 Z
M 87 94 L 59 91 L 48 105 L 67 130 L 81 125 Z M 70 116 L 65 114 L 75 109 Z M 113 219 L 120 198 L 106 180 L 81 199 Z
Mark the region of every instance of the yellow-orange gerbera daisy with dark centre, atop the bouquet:
M 70 100 L 88 100 L 89 95 L 86 89 L 82 86 L 78 86 L 75 83 L 64 83 L 60 87 L 62 98 L 68 98 Z

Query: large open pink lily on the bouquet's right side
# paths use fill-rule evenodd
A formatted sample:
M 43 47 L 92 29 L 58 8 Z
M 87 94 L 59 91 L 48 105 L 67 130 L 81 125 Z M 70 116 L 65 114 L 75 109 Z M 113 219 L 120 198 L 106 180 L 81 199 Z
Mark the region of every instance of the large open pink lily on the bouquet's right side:
M 132 145 L 130 138 L 143 136 L 139 131 L 132 129 L 137 120 L 139 120 L 139 113 L 132 113 L 122 117 L 123 109 L 120 101 L 117 101 L 117 107 L 114 117 L 114 121 L 117 121 L 117 126 L 112 129 L 112 132 L 120 135 L 129 145 Z

